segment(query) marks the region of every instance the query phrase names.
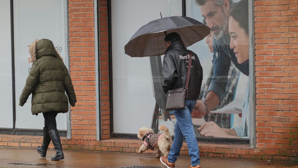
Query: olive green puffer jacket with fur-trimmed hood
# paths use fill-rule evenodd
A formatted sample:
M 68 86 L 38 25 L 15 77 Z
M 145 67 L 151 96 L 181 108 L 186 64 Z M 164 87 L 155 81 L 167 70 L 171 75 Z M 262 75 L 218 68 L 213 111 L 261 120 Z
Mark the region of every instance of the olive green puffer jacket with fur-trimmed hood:
M 19 105 L 24 106 L 29 95 L 32 94 L 32 114 L 68 112 L 68 102 L 71 106 L 75 106 L 77 99 L 68 70 L 52 41 L 35 40 L 29 52 L 33 64 L 20 96 Z

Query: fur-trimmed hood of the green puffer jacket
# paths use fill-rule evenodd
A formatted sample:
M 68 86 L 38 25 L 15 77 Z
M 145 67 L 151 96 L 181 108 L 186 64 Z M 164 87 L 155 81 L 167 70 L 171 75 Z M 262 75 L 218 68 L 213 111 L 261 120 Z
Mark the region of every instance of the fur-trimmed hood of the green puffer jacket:
M 55 49 L 54 44 L 49 39 L 34 40 L 29 48 L 29 53 L 31 56 L 31 62 L 35 62 L 42 56 L 54 56 L 63 62 L 63 58 L 60 56 L 59 52 Z

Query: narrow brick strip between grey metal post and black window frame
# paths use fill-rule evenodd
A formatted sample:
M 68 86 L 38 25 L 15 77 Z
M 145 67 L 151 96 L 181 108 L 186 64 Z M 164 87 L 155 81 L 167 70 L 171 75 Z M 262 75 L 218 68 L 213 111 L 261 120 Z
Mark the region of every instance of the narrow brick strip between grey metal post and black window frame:
M 108 71 L 108 13 L 107 0 L 99 1 L 100 22 L 100 85 L 101 85 L 101 126 L 102 139 L 110 138 L 110 101 Z

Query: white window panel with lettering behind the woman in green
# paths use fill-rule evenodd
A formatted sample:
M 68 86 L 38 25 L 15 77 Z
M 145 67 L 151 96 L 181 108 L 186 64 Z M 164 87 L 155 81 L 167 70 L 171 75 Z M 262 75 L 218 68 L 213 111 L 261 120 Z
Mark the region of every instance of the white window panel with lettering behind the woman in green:
M 29 46 L 35 39 L 50 39 L 60 55 L 67 55 L 63 20 L 63 1 L 61 0 L 14 0 L 14 40 L 15 40 L 15 101 L 16 128 L 42 129 L 43 115 L 32 116 L 31 95 L 24 107 L 18 105 L 32 62 Z M 66 62 L 64 62 L 66 63 Z M 67 66 L 66 66 L 67 67 Z M 56 117 L 57 129 L 66 130 L 66 113 Z

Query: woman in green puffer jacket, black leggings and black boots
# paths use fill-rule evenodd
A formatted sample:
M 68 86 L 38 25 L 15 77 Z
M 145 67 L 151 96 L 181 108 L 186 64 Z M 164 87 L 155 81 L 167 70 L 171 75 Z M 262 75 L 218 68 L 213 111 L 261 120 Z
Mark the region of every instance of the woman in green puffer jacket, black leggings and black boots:
M 56 116 L 58 113 L 68 112 L 68 103 L 75 106 L 77 102 L 72 80 L 51 40 L 35 40 L 30 46 L 29 53 L 33 64 L 19 105 L 24 106 L 32 94 L 32 114 L 44 115 L 44 139 L 42 145 L 37 147 L 37 152 L 41 157 L 46 157 L 46 151 L 52 140 L 56 155 L 51 160 L 64 159 Z

